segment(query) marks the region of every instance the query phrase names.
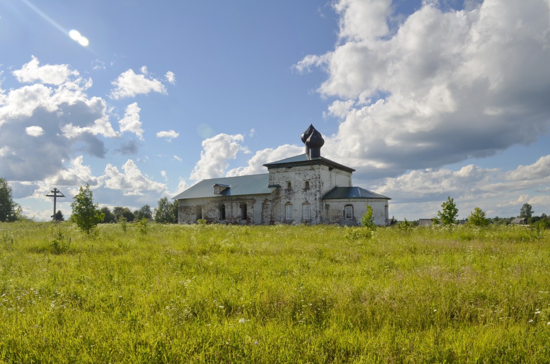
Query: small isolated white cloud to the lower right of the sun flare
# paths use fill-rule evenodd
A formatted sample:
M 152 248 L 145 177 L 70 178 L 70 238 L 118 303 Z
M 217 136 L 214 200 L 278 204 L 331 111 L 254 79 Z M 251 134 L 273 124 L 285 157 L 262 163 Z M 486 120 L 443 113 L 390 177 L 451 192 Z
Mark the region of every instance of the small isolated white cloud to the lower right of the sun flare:
M 142 71 L 144 67 L 142 67 Z M 145 68 L 146 70 L 147 68 Z M 166 93 L 166 87 L 161 81 L 145 76 L 146 74 L 135 74 L 132 69 L 124 71 L 115 81 L 111 82 L 115 86 L 111 90 L 111 98 L 118 100 L 119 98 L 134 97 L 139 94 L 147 95 L 150 92 Z

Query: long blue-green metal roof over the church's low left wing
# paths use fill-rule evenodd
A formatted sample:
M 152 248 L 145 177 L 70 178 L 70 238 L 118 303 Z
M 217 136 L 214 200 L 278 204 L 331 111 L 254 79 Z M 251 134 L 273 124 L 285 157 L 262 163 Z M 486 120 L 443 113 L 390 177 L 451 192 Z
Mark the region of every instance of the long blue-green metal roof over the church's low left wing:
M 221 194 L 214 193 L 214 185 L 229 186 Z M 252 174 L 235 177 L 204 179 L 175 196 L 173 200 L 182 198 L 221 197 L 271 194 L 277 187 L 269 186 L 269 173 Z

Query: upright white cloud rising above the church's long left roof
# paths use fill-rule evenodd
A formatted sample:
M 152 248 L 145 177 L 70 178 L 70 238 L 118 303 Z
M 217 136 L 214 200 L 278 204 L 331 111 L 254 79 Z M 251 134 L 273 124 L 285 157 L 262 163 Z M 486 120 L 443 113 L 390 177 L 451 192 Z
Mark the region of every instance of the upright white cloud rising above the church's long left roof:
M 203 179 L 222 177 L 229 167 L 229 159 L 237 157 L 238 152 L 248 153 L 248 149 L 240 143 L 244 141 L 242 134 L 218 134 L 202 141 L 201 158 L 196 163 L 190 179 L 198 182 Z

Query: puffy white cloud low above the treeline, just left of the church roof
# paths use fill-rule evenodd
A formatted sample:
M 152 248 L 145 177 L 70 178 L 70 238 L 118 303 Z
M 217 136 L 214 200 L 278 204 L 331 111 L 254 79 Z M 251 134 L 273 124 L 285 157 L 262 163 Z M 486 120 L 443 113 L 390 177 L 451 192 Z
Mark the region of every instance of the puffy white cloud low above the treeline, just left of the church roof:
M 107 164 L 100 180 L 108 189 L 122 190 L 125 196 L 143 195 L 143 191 L 156 191 L 158 194 L 167 192 L 165 184 L 147 178 L 131 159 L 123 164 L 122 170 L 119 172 L 116 166 Z

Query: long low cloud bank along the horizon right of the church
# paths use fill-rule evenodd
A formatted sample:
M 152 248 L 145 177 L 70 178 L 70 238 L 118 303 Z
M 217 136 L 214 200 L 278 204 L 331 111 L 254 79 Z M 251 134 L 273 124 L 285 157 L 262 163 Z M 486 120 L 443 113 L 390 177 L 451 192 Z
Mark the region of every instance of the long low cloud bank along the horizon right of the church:
M 461 218 L 467 217 L 475 207 L 482 208 L 489 216 L 515 216 L 526 202 L 542 213 L 547 209 L 545 201 L 549 195 L 538 186 L 550 184 L 550 155 L 508 171 L 470 164 L 459 170 L 413 170 L 374 184 L 366 181 L 359 184 L 392 197 L 391 209 L 398 213 L 398 219 L 436 216 L 447 196 L 454 198 Z

